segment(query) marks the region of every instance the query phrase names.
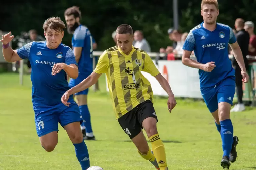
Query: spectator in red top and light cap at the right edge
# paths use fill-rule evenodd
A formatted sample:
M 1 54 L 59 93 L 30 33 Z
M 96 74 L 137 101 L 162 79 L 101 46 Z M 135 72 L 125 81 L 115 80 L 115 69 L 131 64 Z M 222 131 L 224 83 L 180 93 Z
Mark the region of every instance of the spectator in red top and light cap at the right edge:
M 244 23 L 244 29 L 250 35 L 248 55 L 256 56 L 256 35 L 254 34 L 254 23 L 252 21 L 246 21 Z

